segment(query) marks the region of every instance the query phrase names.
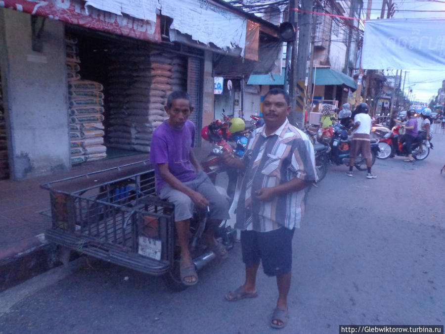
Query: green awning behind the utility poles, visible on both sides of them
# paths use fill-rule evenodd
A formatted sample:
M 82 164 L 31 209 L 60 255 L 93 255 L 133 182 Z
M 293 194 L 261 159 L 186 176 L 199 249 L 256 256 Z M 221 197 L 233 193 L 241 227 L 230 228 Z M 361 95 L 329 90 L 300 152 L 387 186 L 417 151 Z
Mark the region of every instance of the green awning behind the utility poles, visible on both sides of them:
M 357 88 L 354 79 L 342 72 L 330 68 L 314 68 L 313 73 L 315 74 L 315 85 L 346 85 L 353 89 Z M 284 68 L 282 68 L 280 75 L 251 75 L 247 85 L 284 85 Z

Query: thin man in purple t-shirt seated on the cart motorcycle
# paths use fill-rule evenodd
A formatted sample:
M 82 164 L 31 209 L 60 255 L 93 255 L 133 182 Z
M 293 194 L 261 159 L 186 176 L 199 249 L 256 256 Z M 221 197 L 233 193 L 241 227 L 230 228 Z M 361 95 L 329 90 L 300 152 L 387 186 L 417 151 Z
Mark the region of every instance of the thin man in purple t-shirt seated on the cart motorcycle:
M 150 161 L 155 170 L 156 191 L 162 199 L 175 204 L 182 283 L 194 285 L 198 282 L 198 276 L 188 249 L 193 204 L 210 208 L 210 223 L 204 239 L 217 256 L 225 258 L 227 250 L 215 239 L 215 232 L 222 220 L 229 218 L 228 201 L 202 171 L 191 150 L 195 125 L 188 120 L 193 111 L 190 96 L 185 92 L 174 92 L 169 95 L 164 109 L 169 119 L 153 132 Z

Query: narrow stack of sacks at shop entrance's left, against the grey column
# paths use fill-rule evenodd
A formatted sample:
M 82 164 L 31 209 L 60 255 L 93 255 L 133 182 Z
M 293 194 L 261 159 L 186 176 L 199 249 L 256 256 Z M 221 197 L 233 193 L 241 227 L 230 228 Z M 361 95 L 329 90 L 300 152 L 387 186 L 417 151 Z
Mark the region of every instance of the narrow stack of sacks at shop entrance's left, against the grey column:
M 70 105 L 71 163 L 94 161 L 106 157 L 103 145 L 103 86 L 81 80 L 77 40 L 67 37 L 68 95 Z

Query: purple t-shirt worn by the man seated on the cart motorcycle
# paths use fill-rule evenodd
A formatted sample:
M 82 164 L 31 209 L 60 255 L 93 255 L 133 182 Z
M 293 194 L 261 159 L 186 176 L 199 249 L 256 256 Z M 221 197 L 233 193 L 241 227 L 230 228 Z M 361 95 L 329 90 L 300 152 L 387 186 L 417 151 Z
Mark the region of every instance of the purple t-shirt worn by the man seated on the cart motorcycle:
M 156 191 L 161 191 L 166 182 L 159 174 L 159 163 L 168 163 L 170 172 L 181 182 L 196 178 L 190 162 L 190 148 L 195 143 L 195 125 L 187 120 L 181 130 L 172 128 L 164 121 L 153 132 L 150 146 L 150 162 L 154 166 Z

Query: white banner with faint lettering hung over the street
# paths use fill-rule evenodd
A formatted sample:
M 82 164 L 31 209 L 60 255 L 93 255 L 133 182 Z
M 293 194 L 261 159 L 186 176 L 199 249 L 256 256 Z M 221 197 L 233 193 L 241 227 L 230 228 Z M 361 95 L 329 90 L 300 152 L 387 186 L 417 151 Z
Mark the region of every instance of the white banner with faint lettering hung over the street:
M 368 20 L 365 23 L 362 68 L 445 68 L 445 20 Z

